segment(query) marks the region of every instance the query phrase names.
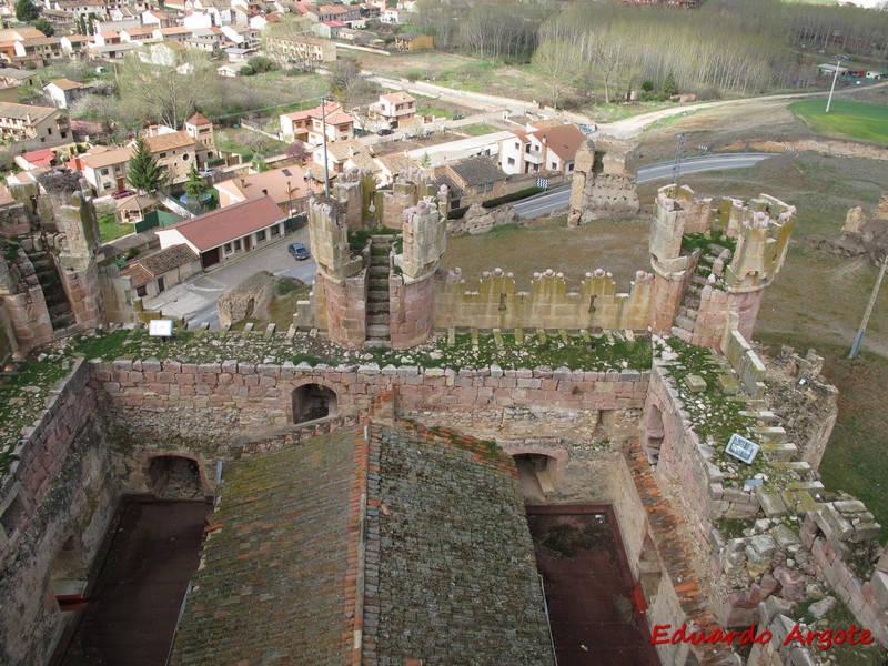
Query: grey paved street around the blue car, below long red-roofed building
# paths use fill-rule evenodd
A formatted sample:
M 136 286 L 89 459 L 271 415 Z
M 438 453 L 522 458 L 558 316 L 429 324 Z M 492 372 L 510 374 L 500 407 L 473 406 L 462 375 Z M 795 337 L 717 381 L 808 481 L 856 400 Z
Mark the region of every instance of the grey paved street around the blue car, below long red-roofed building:
M 236 286 L 259 271 L 275 275 L 287 275 L 314 284 L 317 266 L 314 259 L 296 261 L 286 251 L 290 243 L 304 243 L 309 248 L 309 228 L 303 226 L 282 241 L 256 250 L 235 262 L 210 273 L 203 273 L 183 284 L 176 284 L 154 299 L 145 300 L 145 307 L 162 310 L 164 314 L 184 316 L 189 329 L 204 322 L 210 329 L 219 329 L 216 301 L 222 292 Z M 311 248 L 309 248 L 311 251 Z

